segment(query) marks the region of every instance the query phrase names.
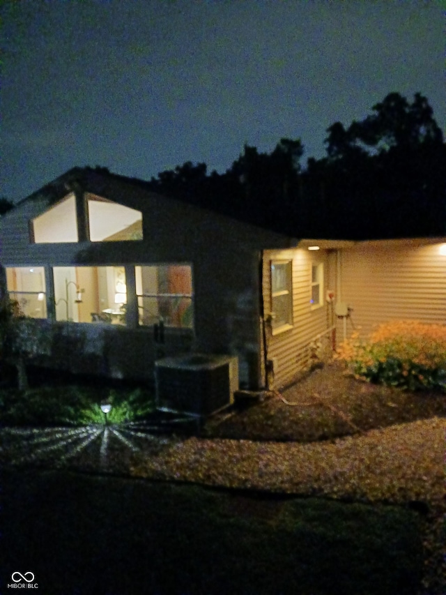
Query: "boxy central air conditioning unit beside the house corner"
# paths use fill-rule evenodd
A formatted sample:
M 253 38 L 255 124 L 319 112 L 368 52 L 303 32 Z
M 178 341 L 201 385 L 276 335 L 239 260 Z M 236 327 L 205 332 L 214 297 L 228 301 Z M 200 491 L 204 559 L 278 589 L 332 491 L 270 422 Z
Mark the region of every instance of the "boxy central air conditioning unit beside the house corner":
M 238 358 L 187 354 L 155 361 L 157 409 L 208 416 L 231 405 L 238 391 Z

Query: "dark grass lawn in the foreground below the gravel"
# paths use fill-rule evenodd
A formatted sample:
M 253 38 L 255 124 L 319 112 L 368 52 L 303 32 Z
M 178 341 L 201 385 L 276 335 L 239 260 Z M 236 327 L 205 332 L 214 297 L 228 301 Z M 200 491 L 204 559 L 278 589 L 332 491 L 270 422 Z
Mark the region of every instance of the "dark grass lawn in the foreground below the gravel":
M 415 595 L 421 522 L 398 506 L 67 471 L 2 474 L 1 592 Z

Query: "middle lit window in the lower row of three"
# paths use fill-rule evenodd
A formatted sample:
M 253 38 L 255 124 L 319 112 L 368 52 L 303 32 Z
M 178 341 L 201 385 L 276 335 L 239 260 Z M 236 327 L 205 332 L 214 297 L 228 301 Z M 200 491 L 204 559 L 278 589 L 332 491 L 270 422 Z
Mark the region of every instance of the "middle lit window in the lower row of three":
M 123 266 L 55 266 L 56 320 L 125 324 Z

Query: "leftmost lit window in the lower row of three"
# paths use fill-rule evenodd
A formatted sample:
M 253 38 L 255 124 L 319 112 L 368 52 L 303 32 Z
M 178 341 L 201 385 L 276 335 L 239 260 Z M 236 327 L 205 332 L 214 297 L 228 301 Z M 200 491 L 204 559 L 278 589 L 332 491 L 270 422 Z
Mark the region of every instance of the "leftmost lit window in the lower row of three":
M 10 299 L 17 301 L 22 315 L 30 318 L 47 317 L 43 266 L 7 268 L 6 287 Z

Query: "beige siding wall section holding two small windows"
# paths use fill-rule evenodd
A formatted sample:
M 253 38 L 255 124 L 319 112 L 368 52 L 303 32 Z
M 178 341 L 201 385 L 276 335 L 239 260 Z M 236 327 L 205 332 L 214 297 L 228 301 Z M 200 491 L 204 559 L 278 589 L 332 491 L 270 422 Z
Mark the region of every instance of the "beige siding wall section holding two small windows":
M 291 384 L 298 373 L 310 363 L 311 345 L 321 333 L 330 327 L 332 321 L 331 307 L 325 301 L 325 294 L 336 288 L 334 253 L 328 250 L 309 251 L 305 248 L 297 250 L 267 250 L 263 254 L 263 303 L 265 317 L 271 312 L 271 274 L 272 260 L 292 260 L 293 263 L 293 327 L 279 333 L 272 333 L 266 324 L 266 340 L 268 359 L 275 361 L 274 386 L 279 389 Z M 323 303 L 312 309 L 311 276 L 312 264 L 322 262 L 324 265 Z M 330 345 L 330 336 L 322 336 L 319 341 L 325 352 Z

